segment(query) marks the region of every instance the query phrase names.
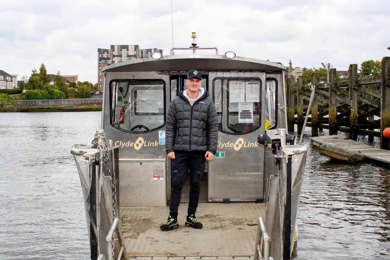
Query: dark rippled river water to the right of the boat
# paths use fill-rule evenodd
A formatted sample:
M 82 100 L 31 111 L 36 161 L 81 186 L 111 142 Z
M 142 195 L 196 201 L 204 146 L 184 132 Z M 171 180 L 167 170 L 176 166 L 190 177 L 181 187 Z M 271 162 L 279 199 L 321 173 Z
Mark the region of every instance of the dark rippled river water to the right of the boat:
M 388 169 L 338 164 L 310 148 L 294 259 L 390 259 L 389 178 Z

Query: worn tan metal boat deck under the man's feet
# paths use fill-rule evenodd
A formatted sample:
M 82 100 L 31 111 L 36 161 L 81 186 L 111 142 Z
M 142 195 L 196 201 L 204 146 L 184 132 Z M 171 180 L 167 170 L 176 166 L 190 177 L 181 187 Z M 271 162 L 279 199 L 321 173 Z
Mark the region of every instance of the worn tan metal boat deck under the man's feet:
M 169 208 L 121 207 L 122 232 L 130 258 L 245 258 L 253 259 L 259 217 L 266 203 L 199 203 L 201 230 L 184 225 L 188 203 L 179 207 L 179 228 L 161 231 Z M 146 258 L 147 257 L 147 258 Z

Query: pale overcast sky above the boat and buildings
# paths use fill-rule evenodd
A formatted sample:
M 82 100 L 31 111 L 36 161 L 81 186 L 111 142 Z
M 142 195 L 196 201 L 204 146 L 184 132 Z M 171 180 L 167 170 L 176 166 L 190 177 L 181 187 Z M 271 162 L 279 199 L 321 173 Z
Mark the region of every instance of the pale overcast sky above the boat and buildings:
M 0 69 L 79 75 L 97 82 L 97 48 L 172 47 L 170 0 L 1 0 Z M 316 67 L 390 56 L 389 0 L 172 0 L 174 44 Z M 190 51 L 177 51 L 177 54 Z M 201 53 L 198 51 L 197 53 Z M 206 53 L 205 51 L 203 53 Z

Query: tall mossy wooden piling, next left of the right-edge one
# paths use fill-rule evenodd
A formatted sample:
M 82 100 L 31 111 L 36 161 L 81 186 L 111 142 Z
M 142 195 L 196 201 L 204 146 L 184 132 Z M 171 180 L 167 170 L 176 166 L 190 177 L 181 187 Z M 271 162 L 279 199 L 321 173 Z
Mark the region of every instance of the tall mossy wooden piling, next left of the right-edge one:
M 349 139 L 358 139 L 358 64 L 349 65 L 349 98 L 351 100 L 351 122 Z

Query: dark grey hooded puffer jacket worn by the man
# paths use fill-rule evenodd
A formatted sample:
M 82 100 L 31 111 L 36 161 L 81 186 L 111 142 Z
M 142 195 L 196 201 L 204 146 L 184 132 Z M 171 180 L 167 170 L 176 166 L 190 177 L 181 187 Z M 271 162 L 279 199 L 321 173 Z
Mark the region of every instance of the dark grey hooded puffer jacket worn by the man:
M 213 100 L 204 92 L 192 106 L 183 91 L 172 100 L 165 125 L 165 150 L 217 150 L 218 119 Z

